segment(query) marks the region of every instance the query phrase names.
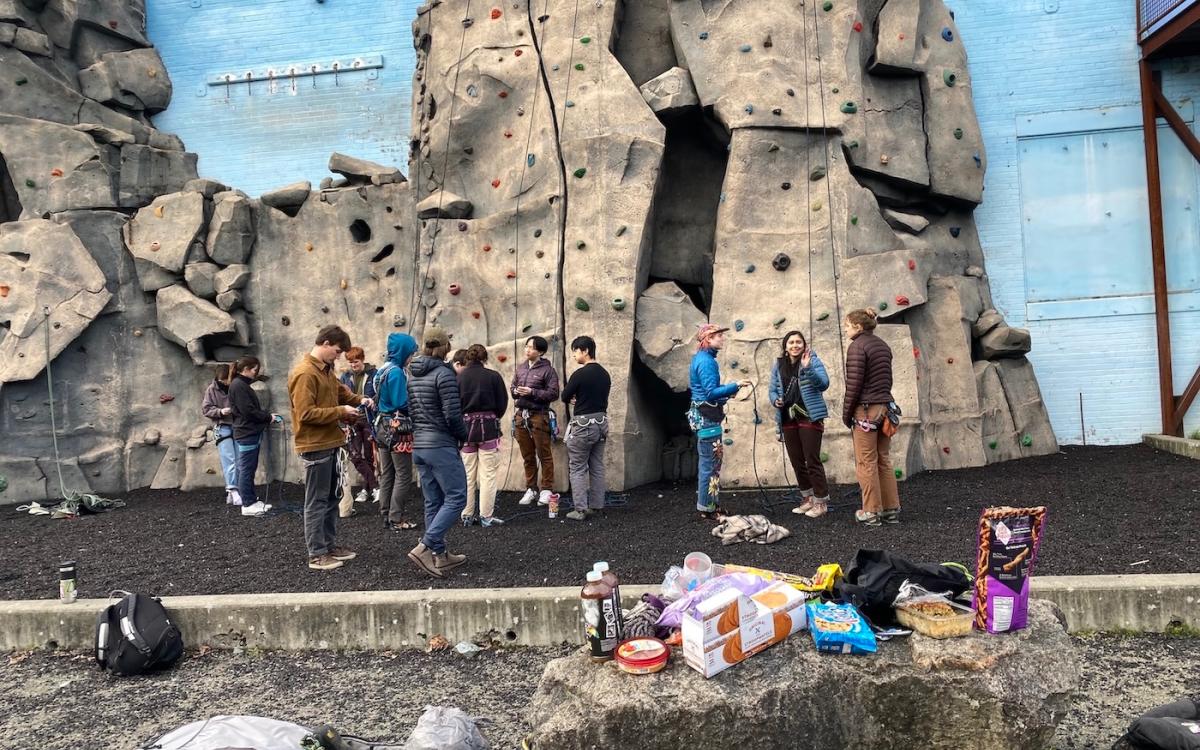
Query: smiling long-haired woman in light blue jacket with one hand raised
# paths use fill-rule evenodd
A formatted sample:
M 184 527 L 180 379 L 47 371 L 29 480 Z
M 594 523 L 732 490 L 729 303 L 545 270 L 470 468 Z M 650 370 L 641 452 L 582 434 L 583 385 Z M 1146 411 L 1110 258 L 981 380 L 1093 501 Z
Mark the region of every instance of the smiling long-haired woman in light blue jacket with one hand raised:
M 770 370 L 768 397 L 800 490 L 800 505 L 792 512 L 820 518 L 829 510 L 829 482 L 821 463 L 821 437 L 829 415 L 821 392 L 829 388 L 829 374 L 800 331 L 788 331 Z

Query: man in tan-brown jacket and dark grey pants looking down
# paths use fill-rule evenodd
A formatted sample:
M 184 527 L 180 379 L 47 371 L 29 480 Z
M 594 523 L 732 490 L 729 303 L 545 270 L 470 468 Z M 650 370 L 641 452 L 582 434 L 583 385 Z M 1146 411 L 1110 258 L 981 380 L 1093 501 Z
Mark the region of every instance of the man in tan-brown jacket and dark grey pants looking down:
M 338 451 L 346 445 L 341 422 L 358 421 L 358 407 L 372 408 L 374 400 L 352 394 L 334 374 L 334 362 L 349 348 L 349 335 L 326 325 L 288 376 L 292 432 L 305 466 L 304 533 L 313 570 L 334 570 L 358 557 L 353 550 L 337 546 L 337 500 L 342 493 Z

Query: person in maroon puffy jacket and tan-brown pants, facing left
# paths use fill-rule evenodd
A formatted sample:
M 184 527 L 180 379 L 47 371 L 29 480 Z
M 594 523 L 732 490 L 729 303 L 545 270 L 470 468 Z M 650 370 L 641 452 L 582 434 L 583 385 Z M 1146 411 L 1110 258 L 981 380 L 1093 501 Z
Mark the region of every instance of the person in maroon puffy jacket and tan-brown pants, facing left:
M 892 469 L 892 438 L 883 433 L 892 403 L 892 349 L 875 335 L 874 310 L 854 310 L 842 323 L 846 349 L 846 397 L 841 421 L 854 440 L 854 468 L 863 508 L 854 518 L 865 526 L 900 522 L 900 491 Z

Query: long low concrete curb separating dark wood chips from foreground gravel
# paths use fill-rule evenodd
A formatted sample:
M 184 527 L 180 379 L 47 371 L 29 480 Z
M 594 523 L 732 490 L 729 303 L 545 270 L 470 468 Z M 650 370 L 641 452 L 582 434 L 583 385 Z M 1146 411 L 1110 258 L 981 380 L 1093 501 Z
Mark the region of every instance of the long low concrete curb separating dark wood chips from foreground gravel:
M 656 587 L 622 587 L 628 605 Z M 1045 576 L 1033 594 L 1055 602 L 1079 631 L 1200 629 L 1200 574 Z M 92 647 L 108 602 L 0 602 L 0 650 Z M 264 649 L 424 648 L 488 637 L 512 646 L 581 640 L 578 589 L 445 589 L 329 594 L 168 596 L 163 604 L 190 647 Z

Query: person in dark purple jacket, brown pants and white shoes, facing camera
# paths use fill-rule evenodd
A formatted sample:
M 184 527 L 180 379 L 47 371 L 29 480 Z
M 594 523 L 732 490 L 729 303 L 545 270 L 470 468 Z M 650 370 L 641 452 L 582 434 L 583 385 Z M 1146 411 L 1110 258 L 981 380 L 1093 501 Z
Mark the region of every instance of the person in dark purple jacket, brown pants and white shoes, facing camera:
M 521 505 L 529 505 L 534 498 L 539 505 L 550 505 L 554 494 L 554 454 L 550 444 L 550 404 L 558 398 L 558 373 L 546 359 L 550 343 L 541 336 L 526 340 L 526 361 L 514 368 L 512 394 L 516 406 L 516 438 L 524 460 L 526 493 Z M 539 467 L 539 464 L 541 464 Z M 539 468 L 541 481 L 539 482 Z M 538 492 L 539 484 L 541 492 Z

